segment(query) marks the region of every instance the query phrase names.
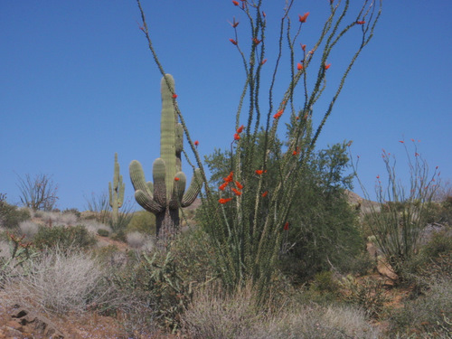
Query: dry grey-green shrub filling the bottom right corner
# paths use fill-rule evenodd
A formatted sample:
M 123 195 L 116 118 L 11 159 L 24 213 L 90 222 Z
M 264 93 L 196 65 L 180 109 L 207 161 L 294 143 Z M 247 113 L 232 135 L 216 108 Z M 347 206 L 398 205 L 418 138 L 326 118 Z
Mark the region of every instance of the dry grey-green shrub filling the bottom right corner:
M 437 280 L 424 296 L 407 300 L 391 315 L 391 335 L 402 338 L 450 338 L 452 280 Z

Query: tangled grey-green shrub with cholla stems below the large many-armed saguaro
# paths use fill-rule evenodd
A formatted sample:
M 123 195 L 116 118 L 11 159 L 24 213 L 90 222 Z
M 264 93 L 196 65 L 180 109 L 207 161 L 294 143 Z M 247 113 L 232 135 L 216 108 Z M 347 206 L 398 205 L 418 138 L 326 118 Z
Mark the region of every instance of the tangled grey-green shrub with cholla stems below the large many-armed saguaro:
M 203 233 L 202 233 L 203 234 Z M 154 321 L 166 328 L 179 328 L 180 315 L 204 281 L 213 278 L 209 243 L 205 234 L 187 231 L 162 253 L 132 252 L 127 265 L 112 278 L 121 293 L 146 305 Z

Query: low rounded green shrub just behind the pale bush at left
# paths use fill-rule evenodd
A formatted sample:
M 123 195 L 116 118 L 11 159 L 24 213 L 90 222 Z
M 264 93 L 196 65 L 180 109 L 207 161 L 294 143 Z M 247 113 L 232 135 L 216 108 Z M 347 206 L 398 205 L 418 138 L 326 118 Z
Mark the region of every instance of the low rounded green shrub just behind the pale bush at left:
M 74 227 L 41 227 L 33 238 L 38 249 L 88 249 L 96 243 L 95 237 L 82 225 Z

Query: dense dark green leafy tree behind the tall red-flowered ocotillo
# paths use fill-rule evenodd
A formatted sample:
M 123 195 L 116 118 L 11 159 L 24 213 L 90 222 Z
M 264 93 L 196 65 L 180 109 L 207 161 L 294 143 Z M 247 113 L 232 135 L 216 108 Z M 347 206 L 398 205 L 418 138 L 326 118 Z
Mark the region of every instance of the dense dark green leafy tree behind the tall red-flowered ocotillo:
M 261 155 L 265 152 L 264 134 L 260 133 L 257 139 L 256 149 Z M 267 174 L 270 176 L 278 176 L 281 148 L 277 139 L 271 152 L 274 156 L 268 159 Z M 229 174 L 229 156 L 230 152 L 215 150 L 214 154 L 206 157 L 213 184 L 220 184 L 222 178 Z M 350 188 L 352 180 L 351 175 L 344 174 L 348 162 L 344 142 L 317 152 L 306 164 L 305 174 L 292 199 L 294 208 L 288 215 L 289 227 L 281 247 L 284 253 L 281 257 L 283 269 L 299 283 L 306 282 L 315 273 L 330 269 L 331 265 L 346 270 L 362 253 L 363 239 L 358 231 L 357 213 L 344 194 L 344 189 Z M 253 166 L 256 168 L 257 164 Z M 254 184 L 257 183 L 251 182 L 247 187 Z M 275 190 L 275 184 L 268 182 L 268 192 Z M 250 187 L 250 190 L 255 189 Z M 209 218 L 202 220 L 205 209 L 206 205 L 198 212 L 198 220 L 204 224 L 211 222 Z M 266 209 L 268 204 L 262 212 Z M 226 217 L 228 215 L 232 222 L 233 212 Z

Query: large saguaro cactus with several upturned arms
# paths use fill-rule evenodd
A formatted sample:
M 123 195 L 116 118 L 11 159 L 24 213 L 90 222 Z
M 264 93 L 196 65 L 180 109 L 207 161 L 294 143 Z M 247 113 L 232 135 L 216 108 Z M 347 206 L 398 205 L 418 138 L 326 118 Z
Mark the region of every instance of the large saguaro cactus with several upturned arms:
M 181 153 L 184 130 L 174 108 L 174 79 L 165 74 L 161 81 L 162 118 L 160 124 L 160 157 L 153 164 L 153 179 L 146 183 L 145 174 L 137 160 L 130 163 L 130 180 L 135 199 L 148 212 L 155 214 L 156 236 L 164 246 L 179 231 L 179 209 L 192 204 L 201 191 L 201 171 L 194 171 L 192 182 L 185 192 L 186 176 L 182 172 Z

